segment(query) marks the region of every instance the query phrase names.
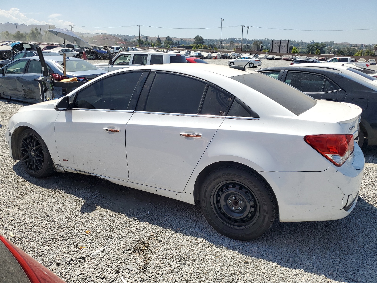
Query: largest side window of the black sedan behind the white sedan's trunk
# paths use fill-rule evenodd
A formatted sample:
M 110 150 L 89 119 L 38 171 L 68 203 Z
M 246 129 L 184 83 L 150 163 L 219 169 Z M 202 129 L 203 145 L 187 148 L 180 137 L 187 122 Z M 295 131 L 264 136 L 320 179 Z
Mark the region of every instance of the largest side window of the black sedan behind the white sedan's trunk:
M 303 92 L 322 92 L 325 78 L 320 75 L 288 72 L 285 83 Z

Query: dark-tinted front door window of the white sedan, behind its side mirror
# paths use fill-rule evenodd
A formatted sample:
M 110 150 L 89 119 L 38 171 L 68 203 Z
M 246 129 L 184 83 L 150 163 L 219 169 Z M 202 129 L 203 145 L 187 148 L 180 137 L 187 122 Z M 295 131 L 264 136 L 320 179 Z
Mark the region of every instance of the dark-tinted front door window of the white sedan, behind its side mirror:
M 142 72 L 104 78 L 77 94 L 74 108 L 127 110 Z

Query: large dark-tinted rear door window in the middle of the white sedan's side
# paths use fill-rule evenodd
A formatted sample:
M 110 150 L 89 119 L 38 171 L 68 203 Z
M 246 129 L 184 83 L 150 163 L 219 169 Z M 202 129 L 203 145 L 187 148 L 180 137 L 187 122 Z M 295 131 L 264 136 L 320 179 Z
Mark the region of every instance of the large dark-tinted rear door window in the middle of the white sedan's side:
M 156 74 L 144 111 L 198 114 L 205 83 L 180 75 Z

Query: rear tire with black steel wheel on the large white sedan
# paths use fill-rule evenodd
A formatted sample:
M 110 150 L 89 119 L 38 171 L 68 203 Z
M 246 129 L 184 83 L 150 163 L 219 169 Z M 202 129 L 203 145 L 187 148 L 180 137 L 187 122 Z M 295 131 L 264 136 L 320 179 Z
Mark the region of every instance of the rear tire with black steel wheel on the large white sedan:
M 265 181 L 250 169 L 236 165 L 223 166 L 208 174 L 199 200 L 208 223 L 235 240 L 260 237 L 277 214 L 276 199 Z

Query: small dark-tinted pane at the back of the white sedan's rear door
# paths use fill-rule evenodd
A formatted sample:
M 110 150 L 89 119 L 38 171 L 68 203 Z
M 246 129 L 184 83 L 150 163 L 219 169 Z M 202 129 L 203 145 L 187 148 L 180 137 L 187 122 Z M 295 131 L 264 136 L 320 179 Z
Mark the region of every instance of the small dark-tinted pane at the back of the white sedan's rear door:
M 225 115 L 233 97 L 219 89 L 208 86 L 202 105 L 203 115 Z

